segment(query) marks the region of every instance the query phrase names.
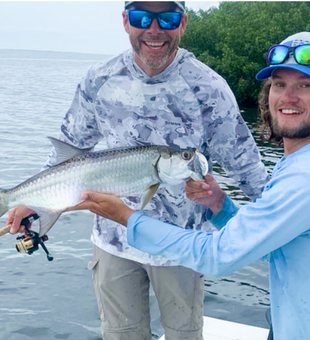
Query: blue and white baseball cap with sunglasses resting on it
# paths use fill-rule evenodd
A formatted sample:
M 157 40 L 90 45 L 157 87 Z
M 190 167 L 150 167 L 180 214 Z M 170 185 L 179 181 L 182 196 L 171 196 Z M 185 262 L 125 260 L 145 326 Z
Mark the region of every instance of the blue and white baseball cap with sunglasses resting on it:
M 310 44 L 310 32 L 299 32 L 293 34 L 280 43 L 280 45 L 285 45 L 289 47 L 295 47 L 305 44 Z M 298 64 L 295 61 L 294 57 L 290 55 L 289 58 L 287 58 L 282 64 L 270 65 L 260 70 L 256 75 L 256 79 L 264 80 L 270 77 L 272 75 L 272 72 L 278 68 L 291 69 L 310 76 L 310 66 Z

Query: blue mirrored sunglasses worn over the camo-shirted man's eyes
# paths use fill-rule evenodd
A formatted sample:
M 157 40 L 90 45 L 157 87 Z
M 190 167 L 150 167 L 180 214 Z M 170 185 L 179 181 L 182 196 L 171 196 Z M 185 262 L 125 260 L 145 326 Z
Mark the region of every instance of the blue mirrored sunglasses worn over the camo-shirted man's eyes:
M 174 30 L 180 26 L 183 13 L 179 12 L 160 12 L 153 13 L 133 9 L 127 11 L 130 25 L 136 28 L 149 28 L 153 19 L 156 18 L 158 26 L 163 30 Z

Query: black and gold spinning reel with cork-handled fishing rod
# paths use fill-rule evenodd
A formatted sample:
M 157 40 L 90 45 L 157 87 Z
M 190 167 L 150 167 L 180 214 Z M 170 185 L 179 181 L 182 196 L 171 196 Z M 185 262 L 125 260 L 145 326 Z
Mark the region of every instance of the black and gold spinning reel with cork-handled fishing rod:
M 33 252 L 37 251 L 39 249 L 39 245 L 43 248 L 43 250 L 46 253 L 48 261 L 53 261 L 53 257 L 50 256 L 50 253 L 48 252 L 44 242 L 48 240 L 47 235 L 39 236 L 39 233 L 30 230 L 27 225 L 29 223 L 32 223 L 33 221 L 37 220 L 39 218 L 39 215 L 33 214 L 28 217 L 25 217 L 20 222 L 21 225 L 25 227 L 25 235 L 18 236 L 16 240 L 16 250 L 20 252 L 26 252 L 27 254 L 31 255 Z M 2 228 L 0 228 L 0 236 L 7 234 L 11 229 L 11 224 L 6 225 Z

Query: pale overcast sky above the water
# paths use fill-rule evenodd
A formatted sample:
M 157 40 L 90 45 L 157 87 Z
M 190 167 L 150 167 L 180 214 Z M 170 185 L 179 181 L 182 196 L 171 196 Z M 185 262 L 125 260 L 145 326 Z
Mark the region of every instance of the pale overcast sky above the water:
M 218 1 L 186 1 L 198 11 Z M 0 49 L 115 55 L 130 48 L 124 1 L 1 1 Z

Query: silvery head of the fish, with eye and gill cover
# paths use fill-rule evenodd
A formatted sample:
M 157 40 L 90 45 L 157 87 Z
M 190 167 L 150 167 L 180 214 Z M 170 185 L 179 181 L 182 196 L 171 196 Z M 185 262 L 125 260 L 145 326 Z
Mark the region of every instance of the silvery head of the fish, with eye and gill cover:
M 202 181 L 208 172 L 208 161 L 196 149 L 163 147 L 157 162 L 157 173 L 162 184 L 178 185 L 192 178 Z

